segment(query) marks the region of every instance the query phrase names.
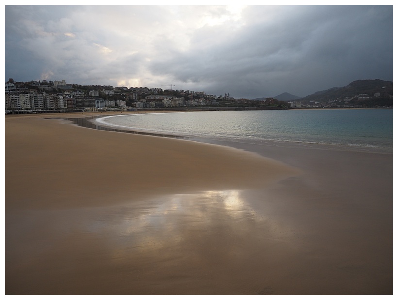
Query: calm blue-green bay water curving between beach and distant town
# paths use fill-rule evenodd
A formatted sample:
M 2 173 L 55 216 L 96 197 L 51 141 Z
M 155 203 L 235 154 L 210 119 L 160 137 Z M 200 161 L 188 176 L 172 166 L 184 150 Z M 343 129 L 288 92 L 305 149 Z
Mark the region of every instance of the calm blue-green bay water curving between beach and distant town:
M 393 151 L 392 109 L 200 111 L 103 117 L 119 129 L 191 138 L 297 142 Z

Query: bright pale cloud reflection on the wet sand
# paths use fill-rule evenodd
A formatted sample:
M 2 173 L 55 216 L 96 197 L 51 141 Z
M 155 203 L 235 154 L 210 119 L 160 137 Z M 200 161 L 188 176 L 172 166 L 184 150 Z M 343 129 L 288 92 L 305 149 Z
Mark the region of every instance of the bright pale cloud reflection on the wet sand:
M 144 204 L 144 203 L 142 203 Z M 120 237 L 140 237 L 140 246 L 162 247 L 164 242 L 176 243 L 188 239 L 189 232 L 206 232 L 228 219 L 240 225 L 255 221 L 255 212 L 240 198 L 239 191 L 207 191 L 201 194 L 170 195 L 147 203 L 150 208 L 129 210 L 112 222 L 118 222 L 115 234 Z M 264 217 L 262 218 L 264 219 Z M 260 221 L 260 220 L 258 220 Z M 103 220 L 100 223 L 107 223 Z M 224 224 L 233 227 L 237 223 Z M 243 227 L 247 227 L 246 224 Z M 103 228 L 104 224 L 98 224 Z M 105 225 L 108 227 L 108 225 Z M 248 227 L 249 228 L 249 227 Z

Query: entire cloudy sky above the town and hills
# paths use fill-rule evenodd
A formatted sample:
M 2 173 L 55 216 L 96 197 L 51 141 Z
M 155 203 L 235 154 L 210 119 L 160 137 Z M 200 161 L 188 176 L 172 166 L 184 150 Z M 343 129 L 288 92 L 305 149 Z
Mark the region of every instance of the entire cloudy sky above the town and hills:
M 5 82 L 254 99 L 393 81 L 392 5 L 5 5 Z

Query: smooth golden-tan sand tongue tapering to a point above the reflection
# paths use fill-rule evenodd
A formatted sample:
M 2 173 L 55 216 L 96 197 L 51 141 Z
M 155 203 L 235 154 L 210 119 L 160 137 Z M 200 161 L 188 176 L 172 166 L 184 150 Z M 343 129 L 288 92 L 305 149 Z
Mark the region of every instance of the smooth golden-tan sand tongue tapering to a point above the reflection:
M 14 125 L 14 128 L 11 125 Z M 25 128 L 28 130 L 25 131 Z M 63 157 L 62 153 L 65 153 L 66 157 Z M 184 174 L 189 172 L 190 164 L 197 167 L 195 172 L 190 172 L 186 176 Z M 264 170 L 259 169 L 257 165 L 262 165 Z M 261 186 L 263 181 L 256 176 L 261 174 L 270 180 L 271 177 L 266 173 L 268 166 L 272 172 L 275 172 L 276 180 L 279 178 L 278 174 L 283 178 L 284 174 L 297 173 L 287 165 L 256 153 L 220 145 L 147 134 L 131 135 L 124 132 L 91 130 L 82 126 L 75 127 L 70 123 L 65 124 L 60 120 L 34 116 L 6 120 L 6 171 L 10 171 L 6 186 L 8 182 L 14 184 L 15 181 L 17 184 L 18 177 L 26 173 L 25 176 L 28 178 L 26 188 L 37 192 L 38 195 L 47 193 L 50 196 L 50 193 L 56 190 L 51 185 L 55 186 L 59 180 L 73 182 L 72 188 L 75 193 L 92 198 L 90 203 L 93 201 L 106 203 L 105 195 L 110 193 L 119 193 L 127 199 L 130 193 L 142 197 L 144 194 L 155 193 L 156 190 L 161 194 L 166 192 L 173 194 L 178 193 L 179 189 L 196 191 L 219 189 L 221 186 L 244 187 L 246 181 L 240 180 L 243 174 L 250 179 L 249 187 Z M 15 167 L 18 167 L 18 171 L 22 174 L 11 172 Z M 92 174 L 93 171 L 87 169 L 89 167 L 96 174 Z M 72 174 L 74 169 L 79 170 L 76 175 Z M 114 178 L 130 176 L 137 180 L 137 183 L 129 186 L 126 181 L 126 184 L 103 186 L 102 193 L 97 195 L 99 199 L 94 200 L 94 197 L 90 196 L 92 191 L 86 190 L 95 189 L 101 177 L 98 172 L 102 169 L 105 171 L 104 176 Z M 228 170 L 228 176 L 223 176 L 225 171 L 223 169 Z M 238 170 L 242 174 L 238 174 Z M 37 172 L 40 172 L 41 178 Z M 48 172 L 53 173 L 54 178 L 48 178 Z M 156 174 L 155 178 L 164 177 L 165 180 L 151 183 L 152 174 Z M 181 184 L 173 184 L 173 178 L 180 180 Z M 217 178 L 220 180 L 216 180 Z M 48 191 L 40 190 L 40 180 L 46 180 L 50 184 Z M 26 193 L 16 190 L 13 194 L 21 198 Z M 30 197 L 33 197 L 37 203 L 41 202 L 34 193 Z M 61 194 L 59 197 L 62 199 L 59 202 L 61 205 L 70 203 L 65 201 L 66 194 Z

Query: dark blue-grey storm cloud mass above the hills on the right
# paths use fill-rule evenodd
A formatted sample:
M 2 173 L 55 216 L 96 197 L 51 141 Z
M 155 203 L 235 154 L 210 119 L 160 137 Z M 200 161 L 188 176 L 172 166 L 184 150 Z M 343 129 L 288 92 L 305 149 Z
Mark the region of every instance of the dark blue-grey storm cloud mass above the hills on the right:
M 201 38 L 189 53 L 153 62 L 181 81 L 206 82 L 208 89 L 232 94 L 304 96 L 344 86 L 356 79 L 392 80 L 392 11 L 388 7 L 294 7 L 278 9 L 277 21 L 249 7 L 238 30 L 218 32 L 215 44 Z M 252 15 L 250 15 L 252 14 Z M 198 32 L 210 36 L 210 29 Z M 249 85 L 249 87 L 248 87 Z M 250 86 L 255 92 L 249 92 Z M 246 94 L 247 94 L 246 93 Z

